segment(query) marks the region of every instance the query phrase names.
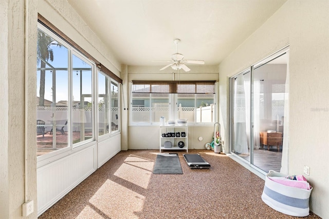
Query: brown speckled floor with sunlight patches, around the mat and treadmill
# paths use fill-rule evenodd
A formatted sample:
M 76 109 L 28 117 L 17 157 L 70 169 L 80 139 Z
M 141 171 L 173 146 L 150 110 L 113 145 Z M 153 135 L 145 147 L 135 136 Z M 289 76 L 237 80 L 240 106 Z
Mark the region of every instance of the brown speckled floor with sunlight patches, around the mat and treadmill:
M 296 218 L 268 207 L 264 180 L 224 154 L 189 150 L 211 164 L 192 170 L 178 151 L 183 174 L 163 175 L 157 153 L 118 153 L 39 218 Z

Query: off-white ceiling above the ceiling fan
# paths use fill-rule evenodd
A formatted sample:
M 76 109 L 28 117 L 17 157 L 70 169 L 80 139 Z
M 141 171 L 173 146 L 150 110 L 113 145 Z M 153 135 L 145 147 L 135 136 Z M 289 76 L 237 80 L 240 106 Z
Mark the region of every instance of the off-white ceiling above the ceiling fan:
M 162 65 L 176 52 L 217 65 L 286 0 L 67 0 L 126 65 Z M 167 63 L 163 63 L 166 65 Z

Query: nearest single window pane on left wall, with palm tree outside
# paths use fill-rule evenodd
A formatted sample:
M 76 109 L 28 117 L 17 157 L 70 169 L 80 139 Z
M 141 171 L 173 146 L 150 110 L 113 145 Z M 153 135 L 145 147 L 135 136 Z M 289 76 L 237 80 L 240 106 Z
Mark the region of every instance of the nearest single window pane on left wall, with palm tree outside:
M 36 142 L 38 156 L 70 145 L 70 50 L 46 30 L 38 28 L 36 70 Z

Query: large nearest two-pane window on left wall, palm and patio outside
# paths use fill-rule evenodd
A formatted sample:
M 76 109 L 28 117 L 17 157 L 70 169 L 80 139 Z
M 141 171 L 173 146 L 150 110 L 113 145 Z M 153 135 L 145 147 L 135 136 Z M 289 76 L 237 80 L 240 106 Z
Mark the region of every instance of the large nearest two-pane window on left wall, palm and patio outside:
M 95 64 L 42 25 L 38 27 L 36 130 L 38 155 L 43 155 L 95 139 Z

